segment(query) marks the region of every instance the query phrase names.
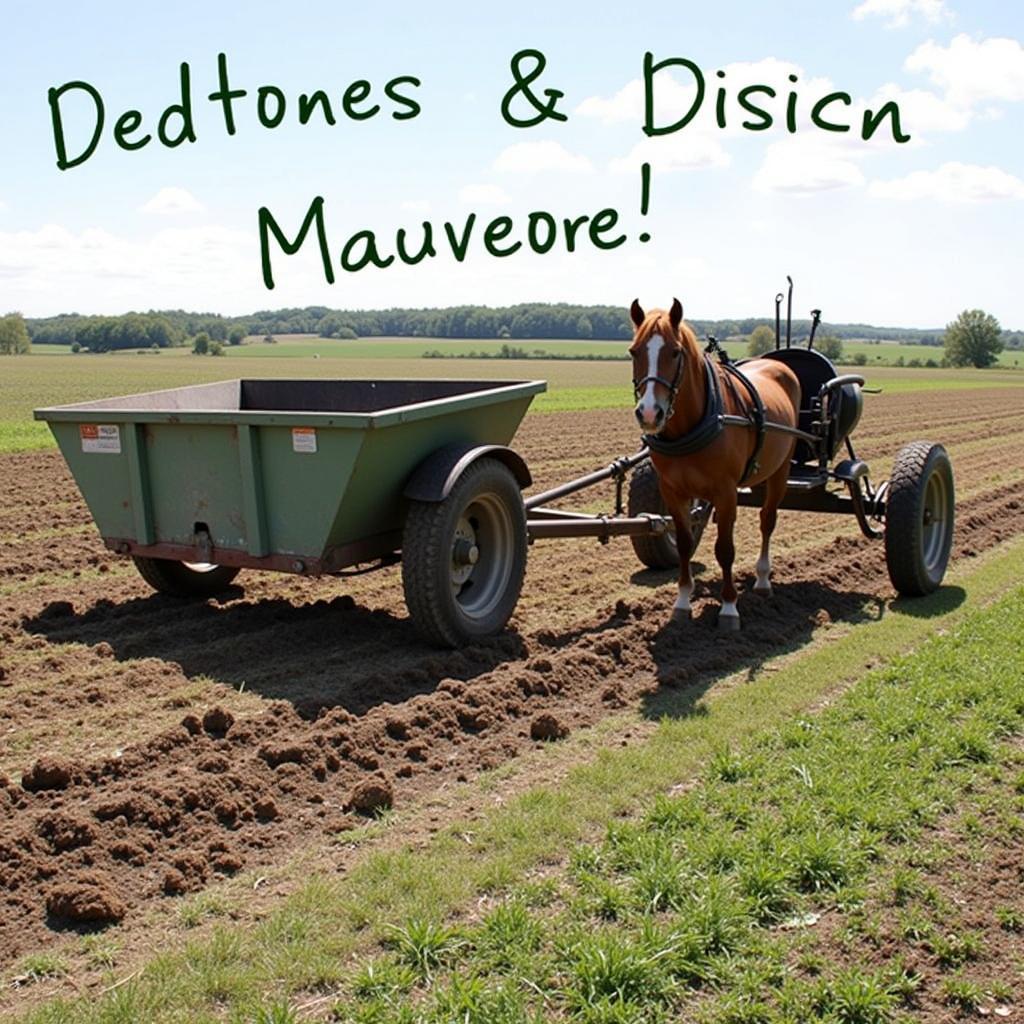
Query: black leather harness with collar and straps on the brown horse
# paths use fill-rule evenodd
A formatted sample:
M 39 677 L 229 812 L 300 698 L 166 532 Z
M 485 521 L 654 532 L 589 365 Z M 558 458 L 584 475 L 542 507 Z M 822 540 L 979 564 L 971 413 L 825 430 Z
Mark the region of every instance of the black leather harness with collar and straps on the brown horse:
M 660 434 L 644 434 L 642 440 L 647 447 L 649 447 L 652 452 L 656 452 L 658 455 L 694 455 L 711 444 L 711 442 L 714 441 L 727 426 L 742 426 L 752 428 L 756 431 L 754 453 L 751 455 L 750 459 L 746 460 L 746 465 L 743 468 L 743 475 L 739 478 L 738 482 L 743 483 L 760 468 L 758 457 L 761 455 L 761 450 L 764 446 L 765 441 L 765 407 L 764 402 L 761 400 L 761 395 L 758 394 L 758 389 L 753 383 L 751 383 L 750 378 L 748 378 L 738 367 L 730 362 L 728 357 L 725 356 L 721 350 L 720 356 L 720 365 L 726 374 L 725 382 L 729 390 L 732 392 L 733 397 L 736 399 L 736 402 L 739 404 L 739 408 L 743 410 L 744 415 L 741 417 L 729 416 L 725 413 L 725 406 L 722 401 L 722 387 L 719 382 L 718 371 L 711 356 L 706 352 L 703 354 L 703 360 L 707 389 L 705 393 L 705 412 L 703 416 L 700 417 L 699 422 L 693 427 L 692 430 L 683 434 L 681 437 L 668 439 L 662 437 Z M 644 385 L 646 385 L 648 381 L 654 381 L 656 384 L 663 384 L 669 389 L 669 415 L 666 418 L 666 423 L 672 419 L 672 415 L 675 412 L 676 394 L 678 393 L 679 385 L 682 382 L 683 367 L 685 366 L 685 353 L 680 351 L 679 369 L 676 371 L 675 379 L 671 382 L 667 381 L 664 377 L 657 376 L 648 376 L 641 381 L 633 382 L 634 391 L 637 393 L 643 389 Z M 742 385 L 750 396 L 749 404 L 744 402 L 739 395 L 736 387 L 737 381 Z

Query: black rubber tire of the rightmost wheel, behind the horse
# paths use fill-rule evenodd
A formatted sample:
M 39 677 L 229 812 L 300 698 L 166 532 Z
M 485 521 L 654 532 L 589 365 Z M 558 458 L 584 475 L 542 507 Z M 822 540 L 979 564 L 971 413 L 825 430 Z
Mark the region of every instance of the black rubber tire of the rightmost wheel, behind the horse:
M 944 478 L 946 525 L 942 548 L 933 565 L 925 559 L 924 513 L 928 481 Z M 911 441 L 900 449 L 886 497 L 886 565 L 893 587 L 904 597 L 923 597 L 938 590 L 952 547 L 955 495 L 949 456 L 941 444 Z

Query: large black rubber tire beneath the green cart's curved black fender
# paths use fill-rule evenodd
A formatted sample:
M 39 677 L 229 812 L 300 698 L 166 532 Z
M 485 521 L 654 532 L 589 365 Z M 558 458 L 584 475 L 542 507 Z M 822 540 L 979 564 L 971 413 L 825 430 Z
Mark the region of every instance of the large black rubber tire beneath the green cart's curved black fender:
M 511 519 L 509 575 L 485 614 L 468 615 L 452 590 L 452 548 L 464 512 L 478 497 L 497 499 Z M 413 626 L 428 643 L 459 647 L 500 633 L 515 610 L 526 571 L 526 509 L 512 471 L 497 459 L 472 463 L 441 502 L 410 502 L 401 543 L 401 583 Z

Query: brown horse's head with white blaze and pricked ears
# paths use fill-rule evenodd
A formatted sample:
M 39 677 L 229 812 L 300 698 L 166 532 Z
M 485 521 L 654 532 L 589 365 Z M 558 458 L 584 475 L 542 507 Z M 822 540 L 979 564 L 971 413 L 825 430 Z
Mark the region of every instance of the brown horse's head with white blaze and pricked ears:
M 652 309 L 645 313 L 634 299 L 630 307 L 633 321 L 633 393 L 634 410 L 645 434 L 662 431 L 675 409 L 676 395 L 686 367 L 687 340 L 692 335 L 683 323 L 683 306 L 672 300 L 672 308 Z M 695 341 L 693 342 L 695 344 Z

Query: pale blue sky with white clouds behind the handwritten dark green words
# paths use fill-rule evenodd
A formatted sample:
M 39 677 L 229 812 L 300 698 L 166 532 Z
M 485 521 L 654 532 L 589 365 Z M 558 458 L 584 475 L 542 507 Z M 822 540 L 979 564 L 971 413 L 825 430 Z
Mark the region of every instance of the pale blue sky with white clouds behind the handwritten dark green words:
M 694 318 L 773 314 L 785 275 L 795 311 L 812 306 L 835 323 L 940 327 L 964 308 L 1024 328 L 1024 5 L 1001 0 L 648 0 L 514 5 L 210 3 L 110 0 L 48 4 L 0 0 L 0 313 L 121 313 L 185 308 L 242 314 L 282 306 L 334 308 L 502 305 L 514 302 L 668 305 Z M 532 84 L 560 91 L 547 119 L 514 127 L 501 114 L 522 49 L 547 65 Z M 643 61 L 685 58 L 706 94 L 692 121 L 643 132 Z M 225 130 L 217 87 L 224 53 L 236 133 Z M 180 103 L 187 62 L 195 142 L 156 137 Z M 531 67 L 523 65 L 523 71 Z M 724 72 L 724 78 L 717 73 Z M 386 84 L 421 108 L 412 119 Z M 797 77 L 792 85 L 791 76 Z M 342 96 L 369 82 L 380 111 L 344 115 Z M 48 91 L 85 82 L 99 94 L 103 125 L 94 154 L 60 170 Z M 652 115 L 670 126 L 695 99 L 695 75 L 658 71 Z M 726 127 L 716 123 L 725 87 Z M 759 94 L 767 131 L 744 129 L 737 93 Z M 274 129 L 257 120 L 261 86 L 285 97 Z M 785 97 L 797 94 L 796 130 Z M 299 124 L 302 93 L 323 89 L 334 125 Z M 826 117 L 852 126 L 826 132 L 814 102 L 843 91 Z M 910 140 L 888 121 L 861 138 L 862 113 L 895 100 Z M 58 100 L 69 157 L 97 125 L 82 89 Z M 154 138 L 126 152 L 114 128 L 138 111 Z M 536 113 L 520 94 L 511 106 Z M 168 119 L 173 135 L 180 119 Z M 641 213 L 641 165 L 651 166 Z M 257 211 L 294 234 L 324 198 L 335 283 L 309 237 L 295 256 L 271 245 L 275 288 L 261 274 Z M 574 252 L 526 246 L 489 256 L 480 236 L 493 218 L 525 240 L 531 212 L 594 217 L 612 208 L 626 241 L 602 251 L 581 234 Z M 443 245 L 443 223 L 477 223 L 466 259 Z M 395 231 L 410 245 L 433 225 L 437 256 L 415 266 L 345 271 L 348 240 L 372 230 L 382 254 Z M 611 232 L 614 234 L 615 232 Z M 641 234 L 649 234 L 642 242 Z

